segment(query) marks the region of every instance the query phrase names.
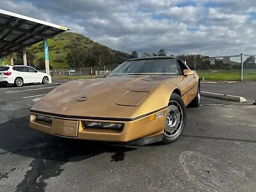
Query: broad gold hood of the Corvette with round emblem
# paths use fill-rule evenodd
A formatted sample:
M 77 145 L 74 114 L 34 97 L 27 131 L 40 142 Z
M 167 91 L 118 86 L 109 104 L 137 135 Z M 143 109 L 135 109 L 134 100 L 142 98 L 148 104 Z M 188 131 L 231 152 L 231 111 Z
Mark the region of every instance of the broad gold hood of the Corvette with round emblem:
M 114 76 L 69 81 L 52 90 L 32 110 L 68 116 L 134 118 L 147 111 L 140 102 L 166 79 L 177 76 Z M 83 102 L 77 99 L 86 97 Z

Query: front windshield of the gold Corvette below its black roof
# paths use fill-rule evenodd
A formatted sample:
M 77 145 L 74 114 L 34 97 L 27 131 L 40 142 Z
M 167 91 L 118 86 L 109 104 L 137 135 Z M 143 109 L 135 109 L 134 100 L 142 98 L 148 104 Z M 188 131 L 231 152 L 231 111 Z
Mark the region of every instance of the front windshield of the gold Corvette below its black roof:
M 152 59 L 125 61 L 111 71 L 108 76 L 140 74 L 166 74 L 180 76 L 180 68 L 175 59 Z

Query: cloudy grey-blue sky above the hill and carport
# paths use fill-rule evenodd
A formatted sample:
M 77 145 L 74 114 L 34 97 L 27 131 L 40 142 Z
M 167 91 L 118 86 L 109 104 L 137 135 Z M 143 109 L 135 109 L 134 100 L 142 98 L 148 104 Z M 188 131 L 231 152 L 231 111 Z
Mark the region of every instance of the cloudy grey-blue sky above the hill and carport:
M 118 51 L 256 54 L 255 0 L 1 0 Z

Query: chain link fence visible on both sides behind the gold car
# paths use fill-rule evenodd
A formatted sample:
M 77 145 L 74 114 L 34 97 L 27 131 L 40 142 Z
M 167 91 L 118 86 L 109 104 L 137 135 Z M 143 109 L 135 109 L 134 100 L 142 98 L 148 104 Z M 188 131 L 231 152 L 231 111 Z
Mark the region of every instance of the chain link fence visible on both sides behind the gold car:
M 184 60 L 189 68 L 196 70 L 202 80 L 256 81 L 256 54 L 237 54 L 215 57 L 194 55 L 180 59 Z M 83 79 L 104 76 L 116 67 L 118 67 L 118 64 L 93 67 L 58 68 L 52 69 L 50 73 L 53 79 Z M 41 71 L 45 72 L 45 70 Z

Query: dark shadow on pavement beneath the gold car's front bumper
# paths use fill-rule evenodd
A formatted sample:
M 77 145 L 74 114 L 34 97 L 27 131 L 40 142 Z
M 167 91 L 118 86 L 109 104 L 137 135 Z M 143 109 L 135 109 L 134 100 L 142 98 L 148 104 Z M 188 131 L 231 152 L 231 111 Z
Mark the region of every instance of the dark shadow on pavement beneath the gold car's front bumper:
M 125 153 L 132 147 L 106 145 L 100 142 L 59 138 L 28 127 L 28 117 L 10 120 L 0 125 L 0 148 L 3 154 L 40 158 L 52 161 L 81 161 L 104 152 Z

